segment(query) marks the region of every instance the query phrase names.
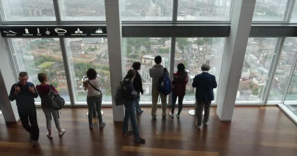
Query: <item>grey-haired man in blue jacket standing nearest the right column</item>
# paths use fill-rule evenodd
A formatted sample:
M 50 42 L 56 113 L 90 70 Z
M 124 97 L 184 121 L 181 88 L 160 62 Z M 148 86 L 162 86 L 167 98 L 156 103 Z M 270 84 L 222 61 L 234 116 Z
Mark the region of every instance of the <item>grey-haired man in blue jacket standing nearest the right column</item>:
M 197 122 L 195 123 L 197 128 L 200 128 L 202 124 L 202 112 L 204 107 L 203 124 L 207 125 L 208 118 L 210 116 L 210 106 L 213 98 L 213 88 L 217 87 L 215 76 L 208 73 L 211 69 L 210 65 L 203 64 L 201 66 L 202 73 L 195 76 L 192 86 L 196 88 L 196 115 Z

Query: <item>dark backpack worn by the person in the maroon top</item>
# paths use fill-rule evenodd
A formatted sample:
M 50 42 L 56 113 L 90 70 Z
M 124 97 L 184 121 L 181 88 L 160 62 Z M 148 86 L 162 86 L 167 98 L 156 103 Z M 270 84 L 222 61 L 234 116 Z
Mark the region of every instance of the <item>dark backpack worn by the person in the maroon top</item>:
M 49 85 L 49 92 L 47 95 L 47 103 L 55 110 L 60 110 L 64 107 L 65 101 L 60 95 L 52 90 L 52 85 Z

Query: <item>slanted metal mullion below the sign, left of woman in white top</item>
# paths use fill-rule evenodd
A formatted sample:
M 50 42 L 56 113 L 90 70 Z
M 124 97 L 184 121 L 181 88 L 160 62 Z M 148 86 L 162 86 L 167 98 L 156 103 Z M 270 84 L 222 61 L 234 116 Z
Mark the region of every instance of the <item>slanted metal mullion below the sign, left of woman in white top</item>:
M 66 80 L 67 80 L 67 87 L 68 87 L 70 103 L 72 106 L 74 106 L 75 98 L 74 98 L 74 92 L 73 92 L 73 88 L 72 88 L 72 81 L 71 81 L 70 68 L 69 68 L 70 65 L 69 65 L 69 61 L 68 61 L 68 57 L 67 57 L 65 40 L 63 38 L 60 38 L 60 43 L 61 43 L 61 51 L 62 51 L 62 57 L 63 57 L 64 70 L 65 70 L 65 75 L 66 75 Z

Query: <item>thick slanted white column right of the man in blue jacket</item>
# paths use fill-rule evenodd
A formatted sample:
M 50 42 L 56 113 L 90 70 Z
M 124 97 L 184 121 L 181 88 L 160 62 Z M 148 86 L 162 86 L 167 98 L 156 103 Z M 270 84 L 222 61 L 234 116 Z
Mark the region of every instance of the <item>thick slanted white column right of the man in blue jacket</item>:
M 255 0 L 234 0 L 230 35 L 227 39 L 216 114 L 230 121 L 255 9 Z

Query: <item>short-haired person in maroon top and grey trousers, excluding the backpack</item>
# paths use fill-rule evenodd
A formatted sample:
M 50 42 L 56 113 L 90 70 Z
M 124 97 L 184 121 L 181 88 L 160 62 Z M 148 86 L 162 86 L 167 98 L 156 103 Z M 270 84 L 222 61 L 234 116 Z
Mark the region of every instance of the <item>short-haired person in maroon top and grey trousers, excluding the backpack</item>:
M 65 133 L 65 130 L 61 129 L 61 127 L 60 127 L 59 111 L 52 108 L 51 105 L 47 102 L 47 95 L 50 92 L 50 89 L 56 93 L 58 93 L 58 91 L 56 90 L 56 88 L 53 85 L 46 84 L 47 75 L 45 73 L 39 73 L 38 80 L 41 82 L 41 84 L 36 85 L 36 89 L 37 89 L 38 94 L 41 98 L 41 107 L 42 107 L 43 113 L 46 118 L 46 128 L 48 131 L 48 133 L 46 134 L 46 137 L 48 137 L 49 139 L 53 138 L 52 130 L 51 130 L 52 129 L 52 125 L 51 125 L 52 116 L 54 118 L 56 128 L 58 129 L 59 136 L 62 137 Z

